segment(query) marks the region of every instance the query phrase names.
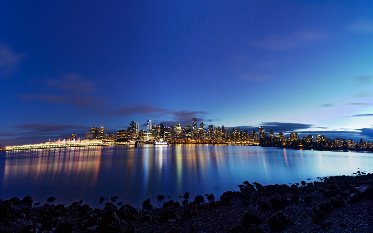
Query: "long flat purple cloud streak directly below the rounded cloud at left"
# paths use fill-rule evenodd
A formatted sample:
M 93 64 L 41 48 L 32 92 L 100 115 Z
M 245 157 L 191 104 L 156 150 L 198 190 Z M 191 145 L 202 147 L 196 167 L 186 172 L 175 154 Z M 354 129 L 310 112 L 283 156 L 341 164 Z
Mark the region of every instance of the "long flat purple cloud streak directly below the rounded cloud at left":
M 81 108 L 90 108 L 90 107 L 103 107 L 105 106 L 104 100 L 102 97 L 97 97 L 94 95 L 81 95 L 81 94 L 24 94 L 20 95 L 21 100 L 23 101 L 35 101 L 40 100 L 48 103 L 56 104 L 66 104 L 72 105 Z

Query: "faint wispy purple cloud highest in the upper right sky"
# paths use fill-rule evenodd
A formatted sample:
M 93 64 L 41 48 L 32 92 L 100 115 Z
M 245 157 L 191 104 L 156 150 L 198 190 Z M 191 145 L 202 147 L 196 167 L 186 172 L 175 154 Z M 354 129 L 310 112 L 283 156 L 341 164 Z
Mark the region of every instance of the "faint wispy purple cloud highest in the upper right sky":
M 320 31 L 301 31 L 289 35 L 270 35 L 254 45 L 270 50 L 286 50 L 312 44 L 326 38 L 326 34 Z

